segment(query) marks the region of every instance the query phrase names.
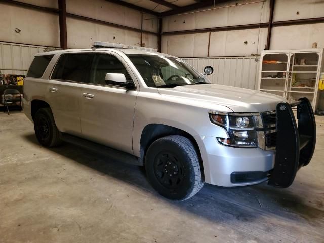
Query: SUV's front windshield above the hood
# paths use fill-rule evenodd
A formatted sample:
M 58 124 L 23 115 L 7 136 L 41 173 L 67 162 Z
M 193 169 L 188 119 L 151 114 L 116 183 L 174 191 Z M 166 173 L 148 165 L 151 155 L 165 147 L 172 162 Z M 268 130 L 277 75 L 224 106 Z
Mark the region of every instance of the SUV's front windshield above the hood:
M 149 87 L 173 88 L 207 84 L 209 80 L 179 58 L 157 55 L 127 55 Z

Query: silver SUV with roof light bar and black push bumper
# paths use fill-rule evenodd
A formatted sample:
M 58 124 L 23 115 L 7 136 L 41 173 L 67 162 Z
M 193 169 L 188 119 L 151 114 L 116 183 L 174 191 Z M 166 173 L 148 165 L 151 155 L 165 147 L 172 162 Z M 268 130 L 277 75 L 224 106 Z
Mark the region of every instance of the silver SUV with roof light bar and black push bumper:
M 306 98 L 288 104 L 211 84 L 212 67 L 201 74 L 167 54 L 107 47 L 35 56 L 23 108 L 43 146 L 68 141 L 145 166 L 151 185 L 174 200 L 204 182 L 288 187 L 309 163 L 316 128 Z

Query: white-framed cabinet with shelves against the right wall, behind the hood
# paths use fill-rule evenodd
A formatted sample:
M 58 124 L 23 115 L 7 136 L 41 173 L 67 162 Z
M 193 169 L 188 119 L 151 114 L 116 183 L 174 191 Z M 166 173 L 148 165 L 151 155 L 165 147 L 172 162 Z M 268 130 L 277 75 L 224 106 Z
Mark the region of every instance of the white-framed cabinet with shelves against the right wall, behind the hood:
M 320 74 L 324 72 L 323 56 L 323 49 L 316 48 L 262 51 L 259 90 L 280 95 L 289 102 L 306 96 L 315 110 L 318 104 L 323 103 L 319 102 L 319 91 L 316 88 Z

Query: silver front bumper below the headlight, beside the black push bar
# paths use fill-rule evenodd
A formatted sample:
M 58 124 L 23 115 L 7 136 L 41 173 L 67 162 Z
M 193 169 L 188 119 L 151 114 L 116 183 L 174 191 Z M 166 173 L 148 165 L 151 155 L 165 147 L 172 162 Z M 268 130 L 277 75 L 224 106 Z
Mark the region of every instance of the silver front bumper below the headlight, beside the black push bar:
M 266 172 L 274 167 L 275 150 L 228 147 L 221 145 L 215 137 L 201 137 L 201 140 L 205 147 L 204 153 L 201 153 L 205 182 L 217 186 L 234 187 L 259 184 L 268 180 Z M 264 172 L 266 176 L 255 177 L 251 181 L 235 181 L 233 174 L 238 172 L 246 172 L 246 174 Z

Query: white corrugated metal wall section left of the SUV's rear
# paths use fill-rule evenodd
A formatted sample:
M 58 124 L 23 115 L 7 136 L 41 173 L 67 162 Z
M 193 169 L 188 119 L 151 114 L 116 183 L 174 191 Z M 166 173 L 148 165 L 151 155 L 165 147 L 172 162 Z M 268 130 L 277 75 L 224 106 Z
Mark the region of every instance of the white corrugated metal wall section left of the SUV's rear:
M 34 55 L 46 47 L 0 42 L 0 72 L 2 74 L 26 75 Z

